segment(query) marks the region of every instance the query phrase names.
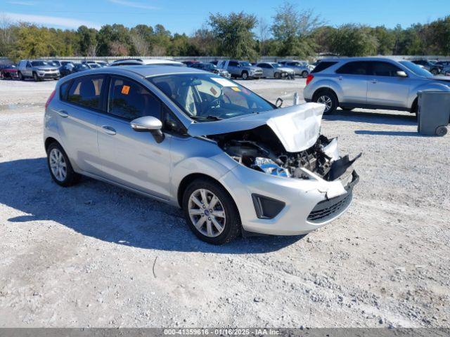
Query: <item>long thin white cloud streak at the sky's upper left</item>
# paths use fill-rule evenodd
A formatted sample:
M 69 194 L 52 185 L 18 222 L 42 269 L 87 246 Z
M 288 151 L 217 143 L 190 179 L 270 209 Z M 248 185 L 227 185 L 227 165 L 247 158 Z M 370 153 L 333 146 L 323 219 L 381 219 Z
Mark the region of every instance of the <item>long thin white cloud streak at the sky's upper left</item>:
M 7 18 L 10 18 L 11 20 L 14 21 L 32 22 L 44 26 L 78 28 L 79 26 L 85 25 L 87 27 L 94 27 L 94 28 L 101 27 L 101 25 L 98 25 L 98 23 L 95 22 L 71 18 L 61 18 L 59 16 L 33 15 L 33 14 L 8 13 L 8 12 L 4 12 L 2 14 L 4 14 Z

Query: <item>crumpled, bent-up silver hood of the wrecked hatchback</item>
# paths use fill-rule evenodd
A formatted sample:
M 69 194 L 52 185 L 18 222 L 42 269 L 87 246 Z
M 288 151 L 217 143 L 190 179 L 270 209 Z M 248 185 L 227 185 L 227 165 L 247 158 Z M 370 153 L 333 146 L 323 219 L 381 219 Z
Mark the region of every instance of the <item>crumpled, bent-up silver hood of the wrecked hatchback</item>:
M 188 126 L 188 134 L 193 137 L 219 135 L 266 124 L 287 152 L 300 152 L 314 145 L 319 138 L 323 110 L 323 104 L 304 103 L 221 121 L 195 122 Z

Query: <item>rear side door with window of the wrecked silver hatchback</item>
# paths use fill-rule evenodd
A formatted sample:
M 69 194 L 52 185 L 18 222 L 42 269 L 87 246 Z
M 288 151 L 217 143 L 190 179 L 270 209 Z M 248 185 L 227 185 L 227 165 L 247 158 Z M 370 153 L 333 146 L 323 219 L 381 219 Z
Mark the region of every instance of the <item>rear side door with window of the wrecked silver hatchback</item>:
M 79 169 L 96 175 L 101 173 L 96 122 L 103 109 L 104 91 L 103 74 L 77 77 L 61 86 L 60 103 L 55 107 L 61 141 L 68 156 Z

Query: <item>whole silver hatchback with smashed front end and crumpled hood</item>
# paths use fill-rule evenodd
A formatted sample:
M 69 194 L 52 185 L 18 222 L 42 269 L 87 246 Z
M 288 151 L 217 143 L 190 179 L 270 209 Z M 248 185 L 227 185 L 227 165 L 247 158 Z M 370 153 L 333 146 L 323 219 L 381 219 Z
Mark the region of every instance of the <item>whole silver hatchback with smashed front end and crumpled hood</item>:
M 319 135 L 322 113 L 193 68 L 110 67 L 58 82 L 44 145 L 58 185 L 89 176 L 181 206 L 200 239 L 223 244 L 310 232 L 348 209 L 354 159 Z

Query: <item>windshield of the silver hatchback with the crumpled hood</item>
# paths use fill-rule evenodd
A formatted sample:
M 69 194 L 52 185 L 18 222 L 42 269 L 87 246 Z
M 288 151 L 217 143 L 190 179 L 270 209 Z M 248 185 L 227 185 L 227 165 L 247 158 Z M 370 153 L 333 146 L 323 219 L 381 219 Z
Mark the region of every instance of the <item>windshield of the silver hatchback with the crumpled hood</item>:
M 189 117 L 197 121 L 275 109 L 275 106 L 239 84 L 214 74 L 172 74 L 149 77 Z

